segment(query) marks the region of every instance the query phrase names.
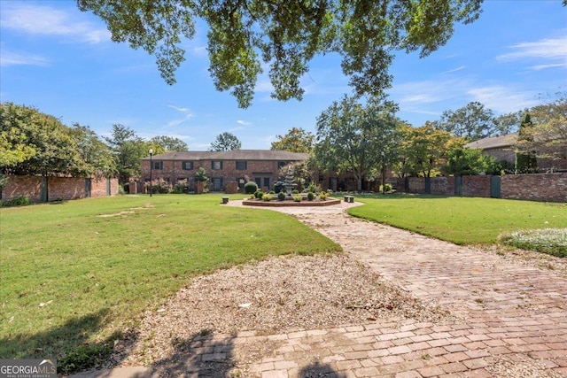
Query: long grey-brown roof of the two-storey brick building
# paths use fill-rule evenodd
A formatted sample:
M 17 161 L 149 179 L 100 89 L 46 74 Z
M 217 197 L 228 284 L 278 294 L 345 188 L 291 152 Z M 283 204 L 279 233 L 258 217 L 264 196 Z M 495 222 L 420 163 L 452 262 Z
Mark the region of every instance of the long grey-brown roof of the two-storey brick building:
M 302 161 L 309 158 L 308 153 L 284 150 L 229 150 L 229 151 L 173 151 L 153 158 L 159 160 L 278 160 Z M 149 160 L 150 157 L 142 158 Z

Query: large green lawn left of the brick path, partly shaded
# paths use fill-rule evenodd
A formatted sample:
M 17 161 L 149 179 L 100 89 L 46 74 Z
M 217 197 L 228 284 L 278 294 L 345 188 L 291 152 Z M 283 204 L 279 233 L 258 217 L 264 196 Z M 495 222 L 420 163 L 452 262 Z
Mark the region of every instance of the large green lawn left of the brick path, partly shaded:
M 82 343 L 98 352 L 196 274 L 340 251 L 282 213 L 220 202 L 126 196 L 0 209 L 0 359 L 62 359 Z

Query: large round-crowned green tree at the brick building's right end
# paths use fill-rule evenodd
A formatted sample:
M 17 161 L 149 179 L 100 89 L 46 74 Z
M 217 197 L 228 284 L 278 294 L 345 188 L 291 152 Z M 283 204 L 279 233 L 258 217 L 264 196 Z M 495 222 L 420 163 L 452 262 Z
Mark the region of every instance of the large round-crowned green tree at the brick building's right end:
M 317 118 L 317 166 L 326 172 L 351 172 L 360 191 L 363 178 L 372 178 L 396 155 L 402 125 L 396 111 L 395 104 L 382 98 L 371 98 L 366 105 L 353 96 L 335 101 Z

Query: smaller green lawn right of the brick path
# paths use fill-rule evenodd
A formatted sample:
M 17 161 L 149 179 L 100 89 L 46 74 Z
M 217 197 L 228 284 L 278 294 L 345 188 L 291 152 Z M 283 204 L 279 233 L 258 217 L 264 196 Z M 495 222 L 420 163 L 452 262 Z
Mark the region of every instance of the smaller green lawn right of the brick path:
M 457 244 L 496 243 L 504 232 L 567 228 L 567 204 L 478 197 L 357 196 L 353 216 Z

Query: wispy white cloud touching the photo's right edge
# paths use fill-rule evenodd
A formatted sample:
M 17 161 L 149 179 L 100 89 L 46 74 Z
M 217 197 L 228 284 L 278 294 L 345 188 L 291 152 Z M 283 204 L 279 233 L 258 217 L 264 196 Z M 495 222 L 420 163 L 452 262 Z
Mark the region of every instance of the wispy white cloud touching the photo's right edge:
M 514 51 L 496 57 L 499 61 L 538 59 L 554 62 L 532 66 L 532 69 L 563 66 L 567 67 L 567 35 L 558 38 L 544 38 L 537 42 L 522 42 L 510 46 Z

